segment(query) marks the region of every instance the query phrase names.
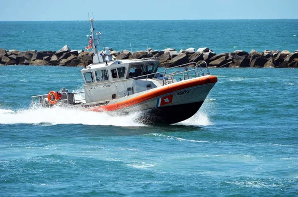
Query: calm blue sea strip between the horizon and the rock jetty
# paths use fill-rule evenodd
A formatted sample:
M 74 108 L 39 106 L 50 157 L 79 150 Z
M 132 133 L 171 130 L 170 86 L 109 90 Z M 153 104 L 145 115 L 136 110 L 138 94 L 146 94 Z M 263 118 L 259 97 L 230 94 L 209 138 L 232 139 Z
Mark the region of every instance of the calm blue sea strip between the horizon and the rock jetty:
M 215 53 L 244 50 L 298 50 L 298 19 L 280 20 L 158 20 L 100 21 L 103 49 L 153 50 L 209 47 Z M 52 50 L 64 45 L 82 50 L 88 45 L 88 21 L 1 22 L 0 48 L 6 50 Z

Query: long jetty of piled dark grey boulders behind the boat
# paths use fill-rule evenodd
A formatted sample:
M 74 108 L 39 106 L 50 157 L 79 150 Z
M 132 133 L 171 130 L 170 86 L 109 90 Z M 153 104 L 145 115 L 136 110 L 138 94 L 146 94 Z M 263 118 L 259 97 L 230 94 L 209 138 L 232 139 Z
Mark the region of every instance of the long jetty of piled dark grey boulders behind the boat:
M 113 51 L 111 55 L 117 59 L 142 59 L 156 58 L 160 67 L 173 67 L 191 62 L 197 64 L 206 61 L 211 67 L 298 67 L 298 50 L 294 53 L 289 51 L 257 52 L 251 50 L 249 53 L 237 50 L 229 53 L 216 54 L 211 49 L 189 48 L 164 49 L 131 52 L 128 50 Z M 0 49 L 1 65 L 36 65 L 36 66 L 87 66 L 93 61 L 92 53 L 88 51 L 71 50 L 67 45 L 59 51 L 17 51 Z

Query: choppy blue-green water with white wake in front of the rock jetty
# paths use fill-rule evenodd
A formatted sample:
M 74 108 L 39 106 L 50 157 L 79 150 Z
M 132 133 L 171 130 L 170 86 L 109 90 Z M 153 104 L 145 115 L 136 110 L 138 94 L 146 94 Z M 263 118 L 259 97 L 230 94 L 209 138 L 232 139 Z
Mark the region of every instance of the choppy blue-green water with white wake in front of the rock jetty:
M 163 127 L 30 107 L 81 91 L 79 70 L 0 66 L 1 197 L 298 196 L 298 69 L 211 69 L 199 112 Z

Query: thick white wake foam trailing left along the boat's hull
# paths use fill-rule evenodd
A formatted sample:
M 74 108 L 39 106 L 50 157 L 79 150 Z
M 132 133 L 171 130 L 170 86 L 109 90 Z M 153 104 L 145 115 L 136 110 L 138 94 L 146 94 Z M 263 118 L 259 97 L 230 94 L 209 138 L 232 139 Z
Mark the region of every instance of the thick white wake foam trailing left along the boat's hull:
M 126 116 L 112 116 L 106 112 L 86 112 L 76 109 L 66 109 L 60 107 L 37 108 L 19 110 L 0 109 L 0 124 L 83 124 L 83 125 L 113 125 L 120 127 L 142 127 L 133 120 L 138 117 L 138 113 Z

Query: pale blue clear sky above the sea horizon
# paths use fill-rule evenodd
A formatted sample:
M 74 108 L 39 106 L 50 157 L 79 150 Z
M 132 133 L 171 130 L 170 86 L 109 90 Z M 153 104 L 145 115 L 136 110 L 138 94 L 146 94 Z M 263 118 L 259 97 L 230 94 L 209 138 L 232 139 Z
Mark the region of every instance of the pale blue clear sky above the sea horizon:
M 298 0 L 0 0 L 0 21 L 298 19 Z

